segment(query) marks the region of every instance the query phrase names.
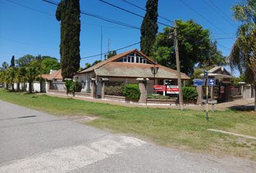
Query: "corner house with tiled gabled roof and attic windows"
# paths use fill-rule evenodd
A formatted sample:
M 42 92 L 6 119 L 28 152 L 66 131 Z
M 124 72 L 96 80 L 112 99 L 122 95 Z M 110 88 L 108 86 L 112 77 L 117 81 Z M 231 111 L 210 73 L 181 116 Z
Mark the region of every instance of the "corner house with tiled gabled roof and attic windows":
M 153 93 L 154 84 L 164 84 L 165 81 L 177 84 L 175 70 L 155 63 L 137 49 L 120 53 L 97 63 L 95 66 L 78 72 L 76 77 L 82 82 L 82 92 L 90 92 L 91 83 L 95 81 L 96 92 L 100 96 L 101 81 L 105 79 L 108 80 L 107 85 L 138 84 L 137 79 L 146 79 L 148 93 Z M 187 79 L 189 76 L 182 73 L 182 81 Z

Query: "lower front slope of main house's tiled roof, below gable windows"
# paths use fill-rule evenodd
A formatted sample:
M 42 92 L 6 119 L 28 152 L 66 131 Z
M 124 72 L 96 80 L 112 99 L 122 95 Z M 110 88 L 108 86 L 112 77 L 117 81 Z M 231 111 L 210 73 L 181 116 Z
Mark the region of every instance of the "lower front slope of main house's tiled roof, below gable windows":
M 155 78 L 158 79 L 176 79 L 176 71 L 165 66 L 158 66 L 158 73 L 155 74 Z M 145 63 L 121 63 L 121 62 L 110 62 L 106 63 L 95 69 L 95 74 L 98 76 L 124 76 L 124 77 L 145 77 L 153 78 L 150 67 L 152 64 Z M 189 79 L 189 76 L 182 73 L 182 79 Z

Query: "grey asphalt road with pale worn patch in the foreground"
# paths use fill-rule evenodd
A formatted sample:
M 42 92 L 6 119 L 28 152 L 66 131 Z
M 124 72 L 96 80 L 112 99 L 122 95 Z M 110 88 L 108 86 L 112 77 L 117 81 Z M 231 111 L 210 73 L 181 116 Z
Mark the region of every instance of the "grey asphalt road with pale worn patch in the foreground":
M 0 100 L 0 172 L 254 172 L 255 163 L 156 146 Z

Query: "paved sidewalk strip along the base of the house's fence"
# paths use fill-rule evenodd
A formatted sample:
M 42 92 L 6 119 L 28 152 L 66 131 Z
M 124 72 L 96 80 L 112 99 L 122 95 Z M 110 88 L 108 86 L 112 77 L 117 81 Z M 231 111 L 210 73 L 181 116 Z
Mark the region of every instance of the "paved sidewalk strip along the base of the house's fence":
M 53 96 L 53 97 L 63 97 L 63 98 L 69 98 L 72 96 L 67 96 L 67 94 L 61 94 L 61 93 L 46 93 L 48 96 Z M 179 109 L 179 106 L 173 106 L 173 105 L 139 105 L 136 103 L 126 103 L 126 102 L 119 102 L 119 101 L 114 101 L 114 100 L 105 100 L 105 99 L 93 99 L 93 98 L 88 98 L 88 97 L 72 97 L 74 99 L 80 99 L 80 100 L 85 100 L 85 101 L 90 101 L 90 102 L 101 102 L 101 103 L 107 103 L 111 105 L 121 105 L 125 107 L 153 107 L 153 108 L 171 108 L 171 109 Z M 215 110 L 226 110 L 229 108 L 234 108 L 234 109 L 247 109 L 247 107 L 252 107 L 254 106 L 254 99 L 237 99 L 232 102 L 223 102 L 223 103 L 218 103 L 214 106 Z M 201 110 L 202 108 L 199 105 L 185 105 L 185 109 L 189 110 Z M 210 109 L 209 105 L 209 109 Z

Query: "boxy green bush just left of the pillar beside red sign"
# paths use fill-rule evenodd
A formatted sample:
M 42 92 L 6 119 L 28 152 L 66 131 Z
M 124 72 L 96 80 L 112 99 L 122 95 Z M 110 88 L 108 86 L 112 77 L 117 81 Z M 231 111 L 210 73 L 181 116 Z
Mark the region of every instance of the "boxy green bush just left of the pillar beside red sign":
M 140 99 L 140 88 L 138 84 L 127 84 L 124 86 L 124 96 L 127 99 Z

